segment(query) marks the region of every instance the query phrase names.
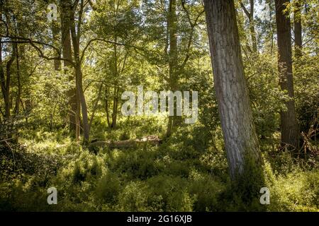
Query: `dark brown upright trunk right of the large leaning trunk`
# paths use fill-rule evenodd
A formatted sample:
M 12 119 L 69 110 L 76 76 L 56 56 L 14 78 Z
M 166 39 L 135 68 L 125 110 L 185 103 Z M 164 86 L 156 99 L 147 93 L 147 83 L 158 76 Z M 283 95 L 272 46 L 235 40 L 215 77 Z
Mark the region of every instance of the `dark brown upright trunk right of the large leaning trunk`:
M 293 73 L 291 59 L 291 28 L 289 13 L 284 12 L 289 0 L 275 0 L 278 44 L 279 85 L 292 100 L 287 101 L 281 116 L 281 143 L 290 149 L 298 147 L 298 126 L 295 101 L 293 100 Z

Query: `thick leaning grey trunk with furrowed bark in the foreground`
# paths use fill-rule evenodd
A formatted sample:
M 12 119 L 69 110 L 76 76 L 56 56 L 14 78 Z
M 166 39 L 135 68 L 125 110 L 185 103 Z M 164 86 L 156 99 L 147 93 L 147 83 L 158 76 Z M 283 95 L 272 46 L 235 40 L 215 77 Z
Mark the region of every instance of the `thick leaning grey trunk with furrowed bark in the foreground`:
M 233 0 L 205 0 L 208 39 L 230 177 L 262 165 L 242 66 Z M 251 168 L 250 168 L 251 169 Z M 259 175 L 254 175 L 259 177 Z

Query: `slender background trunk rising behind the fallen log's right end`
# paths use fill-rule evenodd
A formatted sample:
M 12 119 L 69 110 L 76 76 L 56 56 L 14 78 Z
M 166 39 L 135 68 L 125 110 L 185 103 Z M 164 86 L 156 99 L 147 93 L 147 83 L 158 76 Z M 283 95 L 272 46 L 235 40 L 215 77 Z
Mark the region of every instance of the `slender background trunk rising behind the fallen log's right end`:
M 177 13 L 176 0 L 169 1 L 169 14 L 167 26 L 169 32 L 169 89 L 175 92 L 177 90 Z M 174 112 L 175 112 L 174 105 Z M 167 124 L 167 136 L 172 134 L 174 120 L 176 117 L 169 116 Z

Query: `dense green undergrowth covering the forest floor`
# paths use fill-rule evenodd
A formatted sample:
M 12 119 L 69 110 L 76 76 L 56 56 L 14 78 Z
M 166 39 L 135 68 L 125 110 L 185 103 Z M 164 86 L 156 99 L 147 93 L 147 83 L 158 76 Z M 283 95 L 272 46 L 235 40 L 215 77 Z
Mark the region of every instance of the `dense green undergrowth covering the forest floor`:
M 164 132 L 155 119 L 120 121 L 114 131 L 96 128 L 99 140 Z M 230 184 L 220 132 L 212 139 L 200 124 L 182 126 L 159 146 L 104 147 L 96 153 L 64 133 L 23 131 L 21 145 L 1 147 L 1 210 L 319 211 L 318 157 L 298 159 L 272 149 L 275 138 L 262 143 L 270 205 L 245 206 Z M 51 186 L 57 188 L 57 205 L 47 204 Z

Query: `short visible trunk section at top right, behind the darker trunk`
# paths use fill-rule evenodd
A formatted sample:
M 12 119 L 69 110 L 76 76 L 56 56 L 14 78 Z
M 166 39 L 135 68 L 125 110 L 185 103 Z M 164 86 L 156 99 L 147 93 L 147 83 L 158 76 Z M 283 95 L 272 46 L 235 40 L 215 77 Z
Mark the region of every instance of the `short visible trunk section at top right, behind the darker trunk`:
M 302 54 L 302 25 L 301 25 L 301 3 L 296 1 L 295 11 L 293 12 L 293 26 L 295 36 L 295 54 L 300 57 Z

